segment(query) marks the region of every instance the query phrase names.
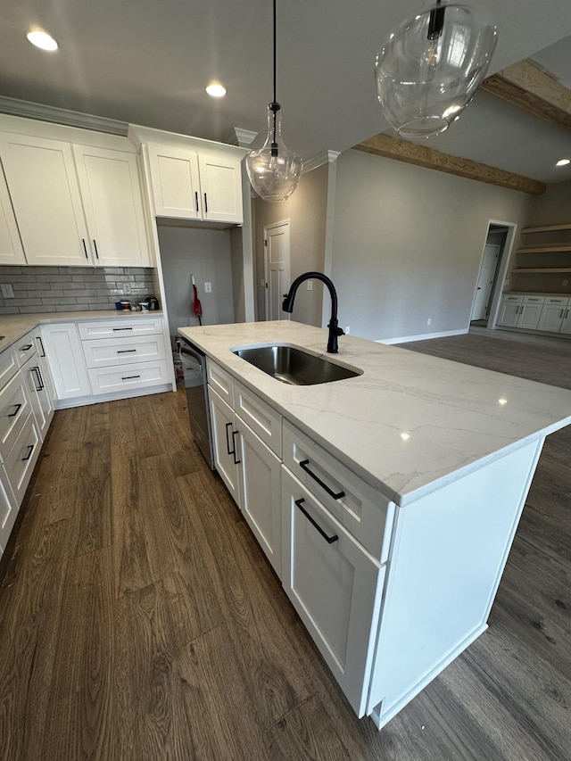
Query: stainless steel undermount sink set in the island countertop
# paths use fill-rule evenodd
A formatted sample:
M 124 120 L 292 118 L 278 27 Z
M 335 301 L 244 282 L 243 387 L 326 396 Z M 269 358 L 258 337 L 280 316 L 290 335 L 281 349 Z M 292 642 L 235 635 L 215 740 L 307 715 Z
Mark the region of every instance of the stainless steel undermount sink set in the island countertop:
M 338 365 L 295 346 L 250 346 L 234 353 L 282 383 L 316 385 L 362 375 L 362 370 Z

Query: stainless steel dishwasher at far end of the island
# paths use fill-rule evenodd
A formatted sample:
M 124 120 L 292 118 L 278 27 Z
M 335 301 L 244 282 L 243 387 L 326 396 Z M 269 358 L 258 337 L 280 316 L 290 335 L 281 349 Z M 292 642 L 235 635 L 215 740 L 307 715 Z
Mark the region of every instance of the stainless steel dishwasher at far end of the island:
M 199 450 L 203 453 L 204 459 L 214 470 L 206 357 L 200 349 L 182 337 L 180 338 L 179 354 L 184 374 L 190 430 Z

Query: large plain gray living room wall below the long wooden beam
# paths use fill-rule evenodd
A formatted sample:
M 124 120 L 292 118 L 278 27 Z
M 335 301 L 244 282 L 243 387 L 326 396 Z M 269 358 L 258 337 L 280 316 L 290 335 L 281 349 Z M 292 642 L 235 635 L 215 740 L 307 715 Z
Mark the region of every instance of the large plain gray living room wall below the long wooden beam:
M 466 330 L 489 222 L 523 226 L 531 197 L 359 151 L 336 164 L 340 326 L 374 340 Z

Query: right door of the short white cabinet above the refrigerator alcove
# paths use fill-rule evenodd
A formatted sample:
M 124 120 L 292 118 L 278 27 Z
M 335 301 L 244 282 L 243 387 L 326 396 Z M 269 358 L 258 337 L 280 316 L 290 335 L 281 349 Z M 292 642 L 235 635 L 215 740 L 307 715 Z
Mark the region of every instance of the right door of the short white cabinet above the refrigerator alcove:
M 203 194 L 203 219 L 241 225 L 244 221 L 244 211 L 240 161 L 201 153 L 198 163 Z

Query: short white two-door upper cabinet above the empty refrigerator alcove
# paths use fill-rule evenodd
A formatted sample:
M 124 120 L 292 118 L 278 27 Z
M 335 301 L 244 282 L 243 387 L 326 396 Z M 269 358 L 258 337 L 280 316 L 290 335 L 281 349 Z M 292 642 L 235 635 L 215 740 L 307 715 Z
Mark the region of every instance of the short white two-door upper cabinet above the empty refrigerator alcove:
M 157 217 L 242 224 L 238 158 L 165 145 L 148 145 L 148 153 Z

